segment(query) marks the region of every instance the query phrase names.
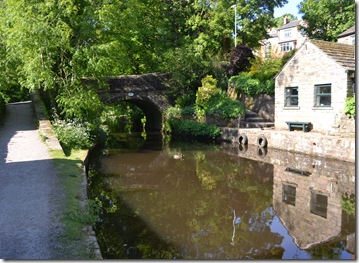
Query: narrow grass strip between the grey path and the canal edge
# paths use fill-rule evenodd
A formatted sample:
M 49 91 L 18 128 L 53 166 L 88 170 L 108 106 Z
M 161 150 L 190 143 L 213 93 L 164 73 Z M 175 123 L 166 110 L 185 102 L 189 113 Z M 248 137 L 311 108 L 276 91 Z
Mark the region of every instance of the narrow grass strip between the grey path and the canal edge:
M 72 151 L 65 156 L 61 150 L 51 150 L 51 157 L 58 171 L 64 194 L 59 213 L 63 231 L 58 237 L 62 244 L 57 248 L 60 259 L 95 259 L 94 245 L 88 242 L 88 227 L 94 224 L 96 215 L 87 201 L 83 184 L 83 160 L 87 151 Z

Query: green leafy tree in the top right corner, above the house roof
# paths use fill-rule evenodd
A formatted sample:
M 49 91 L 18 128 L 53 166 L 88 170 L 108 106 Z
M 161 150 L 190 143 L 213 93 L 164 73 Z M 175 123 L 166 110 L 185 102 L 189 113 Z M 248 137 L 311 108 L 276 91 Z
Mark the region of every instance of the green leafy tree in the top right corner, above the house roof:
M 301 28 L 313 39 L 334 42 L 340 33 L 355 25 L 352 0 L 303 0 L 298 8 L 307 22 Z

